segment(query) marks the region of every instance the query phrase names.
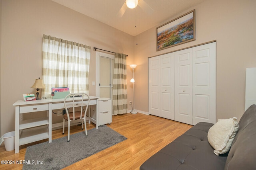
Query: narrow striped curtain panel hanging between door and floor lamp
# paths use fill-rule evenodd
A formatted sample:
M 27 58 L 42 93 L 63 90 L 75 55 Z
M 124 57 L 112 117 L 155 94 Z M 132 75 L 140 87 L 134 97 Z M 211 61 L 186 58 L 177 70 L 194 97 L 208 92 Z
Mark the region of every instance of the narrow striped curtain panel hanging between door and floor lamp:
M 127 113 L 126 55 L 115 53 L 113 79 L 114 115 Z

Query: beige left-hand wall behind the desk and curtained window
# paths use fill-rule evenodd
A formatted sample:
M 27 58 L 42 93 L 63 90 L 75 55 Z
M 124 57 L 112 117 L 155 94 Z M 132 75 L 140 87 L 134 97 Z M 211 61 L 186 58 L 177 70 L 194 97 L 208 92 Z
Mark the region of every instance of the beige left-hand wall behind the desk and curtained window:
M 51 0 L 2 0 L 1 127 L 14 131 L 14 102 L 42 77 L 43 34 L 91 46 L 89 88 L 95 96 L 96 52 L 93 47 L 133 56 L 134 37 Z M 128 77 L 132 72 L 128 71 Z M 128 89 L 130 90 L 130 89 Z M 131 100 L 131 99 L 128 99 Z M 131 108 L 130 108 L 131 109 Z M 59 118 L 59 117 L 58 117 Z

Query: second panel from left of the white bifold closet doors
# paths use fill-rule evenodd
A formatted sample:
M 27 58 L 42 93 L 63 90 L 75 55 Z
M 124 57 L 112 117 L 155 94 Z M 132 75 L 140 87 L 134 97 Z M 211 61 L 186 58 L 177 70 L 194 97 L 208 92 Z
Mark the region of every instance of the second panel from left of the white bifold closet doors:
M 173 53 L 160 58 L 160 116 L 174 120 L 174 57 Z

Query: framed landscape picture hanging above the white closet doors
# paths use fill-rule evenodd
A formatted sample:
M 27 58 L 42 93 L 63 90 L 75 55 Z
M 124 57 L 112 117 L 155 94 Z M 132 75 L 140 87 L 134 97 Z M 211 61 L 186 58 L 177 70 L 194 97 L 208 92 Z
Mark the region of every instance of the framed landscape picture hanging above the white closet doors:
M 196 39 L 195 10 L 156 28 L 156 51 Z

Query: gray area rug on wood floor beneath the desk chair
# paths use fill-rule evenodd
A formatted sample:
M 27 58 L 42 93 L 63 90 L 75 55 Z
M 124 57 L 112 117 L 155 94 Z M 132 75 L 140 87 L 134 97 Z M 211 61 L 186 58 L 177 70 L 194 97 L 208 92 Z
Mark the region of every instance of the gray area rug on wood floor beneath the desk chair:
M 23 170 L 59 170 L 127 139 L 106 125 L 87 133 L 70 135 L 70 142 L 66 136 L 27 147 Z

